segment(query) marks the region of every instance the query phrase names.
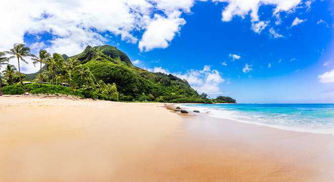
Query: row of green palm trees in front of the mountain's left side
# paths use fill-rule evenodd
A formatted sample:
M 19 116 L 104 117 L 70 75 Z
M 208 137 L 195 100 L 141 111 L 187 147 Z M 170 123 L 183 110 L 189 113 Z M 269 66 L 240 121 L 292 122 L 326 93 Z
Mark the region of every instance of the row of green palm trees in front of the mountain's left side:
M 25 44 L 15 43 L 10 51 L 0 52 L 0 68 L 5 66 L 5 70 L 0 73 L 0 76 L 3 75 L 6 78 L 7 85 L 13 85 L 19 81 L 20 86 L 23 87 L 23 80 L 26 76 L 21 74 L 20 63 L 28 64 L 25 59 L 30 57 L 32 64 L 40 67 L 40 73 L 34 80 L 39 82 L 39 88 L 43 86 L 42 82 L 47 81 L 47 77 L 50 79 L 51 75 L 52 89 L 54 89 L 54 85 L 60 85 L 61 89 L 63 89 L 64 85 L 68 85 L 74 93 L 79 92 L 84 97 L 100 97 L 105 100 L 118 101 L 117 85 L 115 83 L 105 84 L 102 80 L 97 80 L 90 69 L 80 64 L 77 58 L 64 60 L 61 55 L 57 53 L 51 55 L 46 50 L 40 50 L 38 55 L 33 55 L 30 51 L 30 48 L 26 47 Z M 11 59 L 17 59 L 18 69 L 8 63 Z M 46 70 L 42 72 L 43 64 L 46 65 Z M 76 80 L 73 80 L 74 74 L 76 75 Z M 73 83 L 73 81 L 75 82 Z M 3 94 L 2 84 L 2 79 L 0 78 L 0 95 Z

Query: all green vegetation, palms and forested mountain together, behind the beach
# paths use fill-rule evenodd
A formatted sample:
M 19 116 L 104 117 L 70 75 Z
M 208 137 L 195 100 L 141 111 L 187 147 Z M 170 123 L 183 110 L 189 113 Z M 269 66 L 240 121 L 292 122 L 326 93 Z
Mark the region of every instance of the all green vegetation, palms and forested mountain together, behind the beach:
M 10 57 L 5 57 L 6 54 Z M 209 99 L 205 93 L 199 95 L 185 79 L 136 67 L 125 53 L 110 45 L 88 46 L 83 53 L 69 57 L 57 53 L 51 55 L 46 50 L 41 50 L 35 56 L 30 54 L 30 49 L 24 44 L 16 43 L 13 49 L 0 54 L 0 66 L 8 64 L 8 60 L 13 58 L 18 59 L 18 65 L 20 61 L 28 63 L 25 57 L 31 57 L 34 65 L 39 64 L 39 71 L 21 74 L 20 67 L 17 72 L 13 65 L 7 65 L 3 72 L 7 83 L 5 87 L 12 87 L 8 87 L 5 94 L 21 93 L 22 90 L 18 90 L 17 85 L 14 85 L 17 83 L 16 80 L 19 80 L 19 86 L 32 94 L 60 93 L 124 102 L 236 102 L 223 96 Z M 17 73 L 19 75 L 16 75 Z M 24 84 L 24 80 L 30 82 Z M 9 92 L 9 88 L 16 91 Z

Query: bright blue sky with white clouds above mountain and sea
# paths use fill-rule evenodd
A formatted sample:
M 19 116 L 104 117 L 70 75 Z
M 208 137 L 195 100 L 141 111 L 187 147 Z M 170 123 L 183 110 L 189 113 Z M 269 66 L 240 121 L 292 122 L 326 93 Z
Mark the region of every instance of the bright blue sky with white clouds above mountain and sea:
M 25 43 L 72 56 L 109 44 L 211 98 L 334 103 L 333 1 L 13 0 L 0 18 L 0 51 Z M 22 72 L 38 71 L 27 60 Z

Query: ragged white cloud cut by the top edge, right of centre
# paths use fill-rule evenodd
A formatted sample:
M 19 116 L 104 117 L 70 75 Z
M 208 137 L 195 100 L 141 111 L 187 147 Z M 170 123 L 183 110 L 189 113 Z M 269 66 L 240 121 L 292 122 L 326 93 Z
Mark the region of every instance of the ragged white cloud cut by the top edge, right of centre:
M 252 30 L 260 33 L 268 25 L 269 21 L 259 20 L 259 7 L 264 5 L 274 6 L 273 17 L 276 17 L 278 19 L 277 24 L 280 24 L 280 12 L 293 11 L 301 3 L 301 0 L 213 0 L 213 2 L 228 3 L 228 6 L 221 13 L 222 21 L 231 21 L 235 16 L 240 16 L 244 19 L 247 15 L 250 15 Z

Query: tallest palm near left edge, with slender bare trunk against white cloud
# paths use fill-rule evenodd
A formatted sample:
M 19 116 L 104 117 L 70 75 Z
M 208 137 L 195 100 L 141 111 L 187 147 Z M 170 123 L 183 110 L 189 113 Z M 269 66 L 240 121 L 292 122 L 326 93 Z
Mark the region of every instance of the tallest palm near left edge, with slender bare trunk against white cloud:
M 20 59 L 24 63 L 28 64 L 27 61 L 25 61 L 23 58 L 27 56 L 31 56 L 30 54 L 30 48 L 26 47 L 23 43 L 15 43 L 14 48 L 10 51 L 6 51 L 6 54 L 13 55 L 9 57 L 8 59 L 14 59 L 17 58 L 18 64 L 19 64 L 19 75 L 20 75 L 20 84 L 22 86 L 22 80 L 21 80 L 21 70 L 20 70 Z

